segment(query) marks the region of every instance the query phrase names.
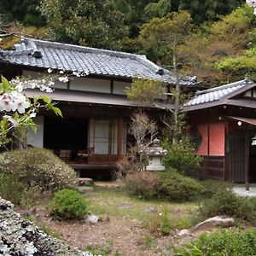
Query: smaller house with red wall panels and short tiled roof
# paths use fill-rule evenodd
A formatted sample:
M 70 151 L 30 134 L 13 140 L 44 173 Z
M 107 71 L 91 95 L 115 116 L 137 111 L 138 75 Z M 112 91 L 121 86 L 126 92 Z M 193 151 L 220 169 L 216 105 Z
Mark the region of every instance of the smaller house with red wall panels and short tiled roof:
M 244 79 L 195 93 L 186 103 L 204 177 L 256 182 L 256 84 Z

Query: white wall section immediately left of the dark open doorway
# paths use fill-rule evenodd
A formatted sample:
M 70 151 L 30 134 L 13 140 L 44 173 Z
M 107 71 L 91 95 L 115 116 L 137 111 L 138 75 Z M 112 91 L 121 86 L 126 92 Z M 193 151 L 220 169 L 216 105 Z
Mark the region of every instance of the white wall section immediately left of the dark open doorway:
M 38 125 L 38 130 L 36 133 L 29 129 L 27 131 L 26 144 L 32 145 L 36 148 L 44 147 L 44 116 L 37 116 L 34 119 L 35 123 Z

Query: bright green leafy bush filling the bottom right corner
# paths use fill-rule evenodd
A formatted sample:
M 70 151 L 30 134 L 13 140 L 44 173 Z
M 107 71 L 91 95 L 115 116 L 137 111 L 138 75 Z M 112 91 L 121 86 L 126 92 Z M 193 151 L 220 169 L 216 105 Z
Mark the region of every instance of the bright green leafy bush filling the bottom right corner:
M 254 256 L 256 255 L 256 230 L 216 231 L 202 234 L 187 247 L 175 248 L 177 256 Z

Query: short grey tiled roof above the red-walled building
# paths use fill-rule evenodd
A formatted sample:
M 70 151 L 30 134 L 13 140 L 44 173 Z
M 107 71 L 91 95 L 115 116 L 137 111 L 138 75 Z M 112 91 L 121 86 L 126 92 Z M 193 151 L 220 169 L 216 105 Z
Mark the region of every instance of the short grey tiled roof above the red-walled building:
M 239 94 L 241 90 L 250 89 L 253 82 L 248 79 L 243 79 L 231 84 L 225 84 L 208 90 L 202 90 L 195 93 L 189 102 L 185 103 L 185 108 L 199 107 L 204 108 L 205 105 L 212 106 L 223 102 L 231 96 Z M 212 104 L 211 104 L 212 103 Z

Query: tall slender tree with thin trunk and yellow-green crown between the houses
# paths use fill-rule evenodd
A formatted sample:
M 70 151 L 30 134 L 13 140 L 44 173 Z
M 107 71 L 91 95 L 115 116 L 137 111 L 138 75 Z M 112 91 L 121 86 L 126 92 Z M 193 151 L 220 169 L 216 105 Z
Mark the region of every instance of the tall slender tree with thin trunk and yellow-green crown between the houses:
M 154 18 L 150 20 L 148 24 L 143 25 L 139 36 L 141 43 L 146 49 L 157 49 L 161 51 L 163 55 L 168 56 L 169 61 L 172 63 L 170 67 L 174 73 L 175 87 L 169 91 L 169 93 L 167 93 L 167 91 L 166 93 L 168 98 L 172 100 L 173 108 L 170 108 L 170 104 L 165 105 L 166 110 L 172 113 L 172 118 L 164 121 L 168 129 L 172 129 L 173 131 L 172 143 L 177 142 L 177 136 L 181 129 L 179 124 L 181 123 L 181 119 L 183 119 L 183 114 L 181 114 L 181 103 L 183 102 L 180 88 L 181 80 L 183 79 L 181 68 L 186 65 L 187 60 L 186 56 L 183 55 L 181 46 L 184 44 L 185 39 L 189 37 L 191 29 L 192 20 L 188 12 L 173 12 L 164 18 Z M 145 82 L 142 82 L 142 84 L 143 83 Z M 161 84 L 159 83 L 158 87 L 160 86 Z M 145 92 L 141 93 L 143 96 L 147 96 L 152 91 L 150 90 L 151 86 L 148 86 L 149 90 L 146 86 L 143 86 L 143 88 L 145 88 Z M 135 89 L 136 87 L 132 87 L 131 89 L 134 90 L 134 94 L 139 92 Z M 156 99 L 159 94 L 154 94 L 154 90 L 152 92 L 154 99 Z M 131 97 L 131 91 L 128 96 L 133 99 L 135 98 L 134 96 Z M 148 99 L 152 100 L 152 96 L 148 96 Z

